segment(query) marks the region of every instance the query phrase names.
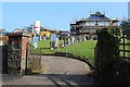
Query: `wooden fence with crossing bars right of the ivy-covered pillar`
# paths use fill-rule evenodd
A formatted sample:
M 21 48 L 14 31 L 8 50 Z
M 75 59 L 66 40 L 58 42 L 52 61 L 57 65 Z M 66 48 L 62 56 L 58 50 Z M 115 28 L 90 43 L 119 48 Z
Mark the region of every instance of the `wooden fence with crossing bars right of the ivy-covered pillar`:
M 130 37 L 128 37 L 127 35 L 123 34 L 121 39 L 122 39 L 122 41 L 121 41 L 121 44 L 119 44 L 119 47 L 120 46 L 122 47 L 122 49 L 119 50 L 120 58 L 130 59 L 130 54 L 127 55 L 128 53 L 130 53 L 130 41 L 128 41 L 128 40 L 130 40 Z M 129 49 L 127 47 L 129 47 Z M 122 53 L 122 55 L 121 55 L 121 53 Z

